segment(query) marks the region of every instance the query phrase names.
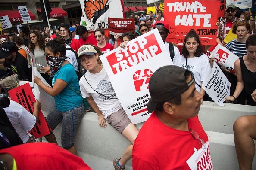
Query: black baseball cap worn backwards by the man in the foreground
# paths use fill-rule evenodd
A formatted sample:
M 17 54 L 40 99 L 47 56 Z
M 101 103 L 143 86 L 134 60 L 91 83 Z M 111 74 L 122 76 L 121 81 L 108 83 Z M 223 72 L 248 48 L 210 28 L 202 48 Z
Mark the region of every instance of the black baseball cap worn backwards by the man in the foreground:
M 187 83 L 185 72 L 188 70 L 178 66 L 163 66 L 156 70 L 150 77 L 149 92 L 150 101 L 147 103 L 147 110 L 153 112 L 160 102 L 165 102 L 174 97 L 181 95 L 186 91 L 190 85 L 193 84 L 192 80 Z M 192 73 L 190 73 L 193 75 Z

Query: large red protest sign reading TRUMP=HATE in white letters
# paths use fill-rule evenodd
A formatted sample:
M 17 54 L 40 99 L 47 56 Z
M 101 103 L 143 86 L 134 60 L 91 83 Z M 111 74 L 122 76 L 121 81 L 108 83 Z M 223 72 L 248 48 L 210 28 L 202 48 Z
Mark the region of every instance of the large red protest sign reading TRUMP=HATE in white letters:
M 164 16 L 169 23 L 168 42 L 184 42 L 184 36 L 194 29 L 205 45 L 215 45 L 220 1 L 215 0 L 165 0 Z

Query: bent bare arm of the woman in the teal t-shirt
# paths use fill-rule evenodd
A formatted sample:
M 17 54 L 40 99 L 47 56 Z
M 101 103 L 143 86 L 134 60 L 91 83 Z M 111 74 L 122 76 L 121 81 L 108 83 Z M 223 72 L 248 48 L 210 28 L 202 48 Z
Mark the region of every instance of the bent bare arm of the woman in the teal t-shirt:
M 36 83 L 39 87 L 41 87 L 45 92 L 50 94 L 51 96 L 56 96 L 62 92 L 62 90 L 68 85 L 67 82 L 65 82 L 62 79 L 56 79 L 56 82 L 54 83 L 53 87 L 49 87 L 45 85 L 40 78 L 37 76 L 34 76 L 34 83 Z

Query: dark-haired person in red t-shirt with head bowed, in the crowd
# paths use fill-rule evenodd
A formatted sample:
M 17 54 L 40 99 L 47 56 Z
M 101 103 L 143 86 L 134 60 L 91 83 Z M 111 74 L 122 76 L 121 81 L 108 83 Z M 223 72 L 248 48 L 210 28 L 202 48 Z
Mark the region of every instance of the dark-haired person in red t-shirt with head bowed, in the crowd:
M 97 44 L 95 37 L 89 34 L 89 31 L 84 26 L 77 27 L 76 34 L 80 36 L 79 42 L 81 46 L 84 44 L 92 44 L 95 46 Z

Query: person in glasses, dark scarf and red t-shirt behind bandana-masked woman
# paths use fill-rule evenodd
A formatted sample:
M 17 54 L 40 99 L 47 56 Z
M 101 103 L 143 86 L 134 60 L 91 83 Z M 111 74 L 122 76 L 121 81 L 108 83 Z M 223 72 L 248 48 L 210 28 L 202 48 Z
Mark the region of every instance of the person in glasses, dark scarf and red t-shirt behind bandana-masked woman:
M 65 44 L 70 46 L 75 52 L 78 52 L 80 43 L 70 35 L 69 24 L 60 24 L 59 31 L 61 36 L 65 39 Z

